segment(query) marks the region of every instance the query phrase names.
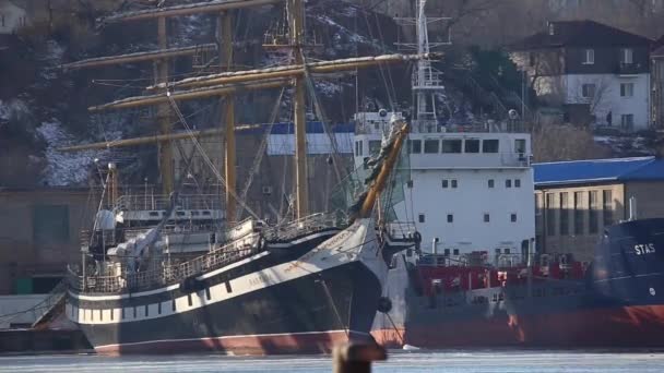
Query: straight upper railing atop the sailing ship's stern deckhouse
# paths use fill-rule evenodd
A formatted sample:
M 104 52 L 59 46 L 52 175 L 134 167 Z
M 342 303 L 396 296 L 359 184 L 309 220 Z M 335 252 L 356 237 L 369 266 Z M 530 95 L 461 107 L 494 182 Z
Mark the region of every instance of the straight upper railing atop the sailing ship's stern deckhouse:
M 151 194 L 126 194 L 118 198 L 118 210 L 166 210 L 170 206 L 170 196 Z M 217 194 L 179 195 L 177 209 L 221 209 L 222 201 Z

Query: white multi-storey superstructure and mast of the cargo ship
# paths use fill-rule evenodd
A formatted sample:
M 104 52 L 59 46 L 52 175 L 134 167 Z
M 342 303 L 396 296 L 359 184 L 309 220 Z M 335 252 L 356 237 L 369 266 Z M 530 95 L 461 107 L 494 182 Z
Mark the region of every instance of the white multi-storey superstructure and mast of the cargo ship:
M 430 45 L 426 0 L 418 0 L 418 52 Z M 411 181 L 396 218 L 415 221 L 424 251 L 461 256 L 485 251 L 495 254 L 534 252 L 535 206 L 531 168 L 531 137 L 518 122 L 473 125 L 443 124 L 435 97 L 444 88 L 430 61 L 413 72 L 414 113 L 408 141 Z M 376 155 L 390 118 L 401 113 L 355 115 L 354 159 L 361 170 Z

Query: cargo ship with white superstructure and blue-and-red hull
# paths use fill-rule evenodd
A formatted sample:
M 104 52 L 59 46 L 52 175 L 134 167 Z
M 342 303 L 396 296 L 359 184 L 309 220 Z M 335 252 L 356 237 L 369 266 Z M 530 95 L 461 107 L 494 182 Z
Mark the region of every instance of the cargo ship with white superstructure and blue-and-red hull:
M 417 0 L 417 17 L 407 20 L 419 52 L 432 48 L 427 25 L 437 20 L 426 16 L 426 2 Z M 412 203 L 394 210 L 415 222 L 422 245 L 391 260 L 376 340 L 428 349 L 663 347 L 664 219 L 606 227 L 591 262 L 538 252 L 525 105 L 511 103 L 502 121 L 464 123 L 441 118 L 444 94 L 442 74 L 418 61 Z M 357 165 L 391 116 L 355 116 Z

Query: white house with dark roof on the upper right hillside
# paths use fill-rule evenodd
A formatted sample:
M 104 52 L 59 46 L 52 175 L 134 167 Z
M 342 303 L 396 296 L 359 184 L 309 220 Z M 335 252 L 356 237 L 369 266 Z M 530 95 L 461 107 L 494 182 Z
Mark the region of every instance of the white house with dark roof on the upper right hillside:
M 592 21 L 552 22 L 515 44 L 512 59 L 568 121 L 631 132 L 651 123 L 651 43 Z

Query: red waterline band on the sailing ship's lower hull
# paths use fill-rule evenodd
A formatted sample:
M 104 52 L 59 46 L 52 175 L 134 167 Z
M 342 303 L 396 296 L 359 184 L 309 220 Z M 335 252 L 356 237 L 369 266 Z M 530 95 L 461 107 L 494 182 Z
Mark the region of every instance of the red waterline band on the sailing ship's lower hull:
M 278 354 L 278 353 L 328 353 L 336 345 L 348 341 L 374 341 L 366 334 L 345 330 L 233 336 L 201 339 L 155 340 L 138 344 L 99 346 L 95 351 L 105 356 L 126 353 L 187 353 L 187 352 L 225 352 L 235 354 Z

